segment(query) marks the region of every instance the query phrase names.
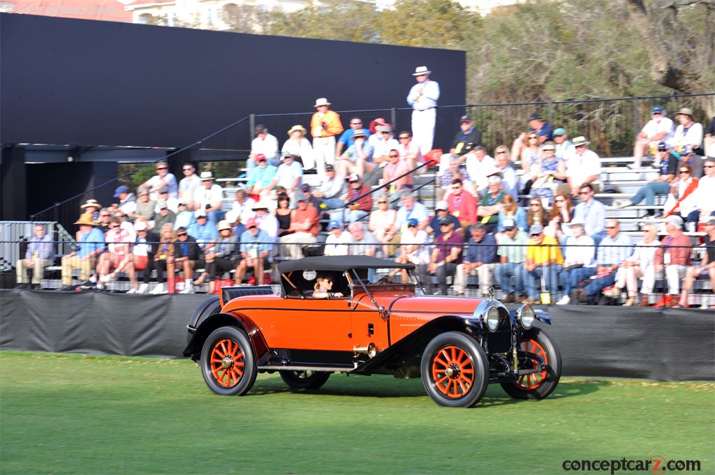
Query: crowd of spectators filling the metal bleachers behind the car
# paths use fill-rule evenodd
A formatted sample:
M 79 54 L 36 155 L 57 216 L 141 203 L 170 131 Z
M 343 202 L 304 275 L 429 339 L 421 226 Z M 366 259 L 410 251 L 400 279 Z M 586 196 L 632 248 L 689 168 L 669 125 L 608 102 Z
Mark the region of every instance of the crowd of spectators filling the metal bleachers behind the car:
M 649 306 L 656 279 L 663 279 L 666 292 L 654 306 L 684 307 L 697 279 L 715 287 L 715 158 L 705 154 L 713 147 L 715 118 L 704 129 L 684 108 L 675 126 L 662 106 L 652 107 L 629 168 L 646 169 L 644 157 L 653 156 L 649 166 L 658 176 L 630 199 L 613 201 L 617 209 L 645 201 L 644 238 L 633 242 L 597 199 L 601 159 L 589 141 L 570 140 L 537 113 L 511 147 L 490 144 L 493 149 L 471 117 L 462 116 L 449 153 L 435 153 L 440 90 L 430 74 L 425 66 L 415 69 L 407 96 L 411 130 L 395 131 L 379 117 L 365 127 L 358 116 L 343 129 L 326 98 L 315 101 L 309 129 L 292 126 L 282 146 L 267 126 L 255 126 L 245 184 L 229 211 L 211 171 L 187 163 L 177 180 L 163 161 L 136 194 L 122 185 L 109 206 L 87 201 L 75 222 L 77 250 L 61 258 L 61 290 L 77 288 L 75 269 L 97 289 L 126 274 L 131 294 L 149 292 L 154 270 L 152 294 L 192 293 L 206 282 L 215 291 L 230 271 L 236 285 L 251 274 L 260 285 L 270 281 L 273 261 L 315 254 L 414 264 L 428 294 L 448 294 L 451 283 L 463 295 L 475 279 L 478 295 L 487 296 L 498 284 L 505 302 L 597 304 L 623 294 L 625 306 Z M 435 169 L 434 211 L 414 192 L 428 166 Z M 304 181 L 306 174 L 317 175 L 310 180 L 315 186 Z M 660 241 L 657 224 L 665 228 Z M 694 244 L 684 231 L 704 231 L 699 262 L 691 259 Z M 36 269 L 53 256 L 43 226 L 36 226 L 16 266 L 18 283 L 38 286 Z M 28 269 L 35 269 L 31 281 Z

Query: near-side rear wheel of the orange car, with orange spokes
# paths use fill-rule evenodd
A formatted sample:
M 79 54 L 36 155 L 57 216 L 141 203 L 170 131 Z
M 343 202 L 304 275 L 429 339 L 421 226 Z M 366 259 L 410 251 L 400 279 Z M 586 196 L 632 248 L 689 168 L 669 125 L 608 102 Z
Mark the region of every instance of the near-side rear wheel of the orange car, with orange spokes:
M 221 396 L 243 396 L 258 372 L 248 336 L 233 326 L 222 326 L 209 335 L 199 364 L 206 385 Z

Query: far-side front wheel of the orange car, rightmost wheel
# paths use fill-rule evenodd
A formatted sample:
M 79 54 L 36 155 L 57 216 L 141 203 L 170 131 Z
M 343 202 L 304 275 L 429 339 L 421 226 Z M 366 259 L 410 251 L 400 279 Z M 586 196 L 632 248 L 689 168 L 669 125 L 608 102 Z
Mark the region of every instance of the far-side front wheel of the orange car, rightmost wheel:
M 541 373 L 525 374 L 516 381 L 501 383 L 506 394 L 515 399 L 543 399 L 556 389 L 561 379 L 561 352 L 545 331 L 532 328 L 521 336 L 521 351 L 541 356 L 548 367 Z M 519 369 L 530 369 L 536 361 L 528 358 L 519 359 Z

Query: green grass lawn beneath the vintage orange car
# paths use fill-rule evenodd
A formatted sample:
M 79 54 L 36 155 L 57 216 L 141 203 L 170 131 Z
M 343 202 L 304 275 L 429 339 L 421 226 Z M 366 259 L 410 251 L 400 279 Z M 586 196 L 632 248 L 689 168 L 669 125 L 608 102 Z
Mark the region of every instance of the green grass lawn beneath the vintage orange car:
M 0 473 L 574 474 L 564 460 L 662 456 L 713 474 L 714 390 L 562 379 L 543 401 L 490 386 L 449 409 L 419 379 L 335 374 L 307 393 L 260 374 L 222 397 L 188 360 L 3 351 Z

